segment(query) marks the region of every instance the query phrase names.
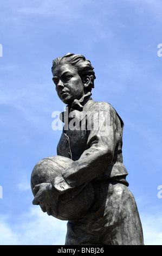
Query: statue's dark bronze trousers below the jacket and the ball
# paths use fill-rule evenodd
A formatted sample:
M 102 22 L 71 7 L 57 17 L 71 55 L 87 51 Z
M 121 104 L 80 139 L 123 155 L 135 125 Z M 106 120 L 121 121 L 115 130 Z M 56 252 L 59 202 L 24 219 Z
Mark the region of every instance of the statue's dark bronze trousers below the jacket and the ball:
M 79 220 L 67 223 L 65 245 L 144 245 L 134 196 L 115 180 L 94 180 L 95 203 Z

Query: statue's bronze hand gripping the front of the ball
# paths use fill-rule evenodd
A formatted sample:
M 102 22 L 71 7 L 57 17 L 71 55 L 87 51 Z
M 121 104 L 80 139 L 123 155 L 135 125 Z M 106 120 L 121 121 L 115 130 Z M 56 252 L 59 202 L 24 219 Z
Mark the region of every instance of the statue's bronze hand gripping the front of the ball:
M 51 215 L 50 205 L 54 204 L 60 193 L 51 183 L 38 184 L 33 188 L 33 191 L 36 193 L 33 204 L 40 205 L 43 212 L 47 211 L 47 214 Z

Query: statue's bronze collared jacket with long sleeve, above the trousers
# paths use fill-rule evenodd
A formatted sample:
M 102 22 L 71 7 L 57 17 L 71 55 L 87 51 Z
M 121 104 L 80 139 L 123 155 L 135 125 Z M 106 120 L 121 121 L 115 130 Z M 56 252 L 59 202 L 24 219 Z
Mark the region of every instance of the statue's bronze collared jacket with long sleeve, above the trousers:
M 94 101 L 90 95 L 75 100 L 62 116 L 65 124 L 57 155 L 74 161 L 53 181 L 60 193 L 93 179 L 118 179 L 128 174 L 122 161 L 124 123 L 109 103 Z

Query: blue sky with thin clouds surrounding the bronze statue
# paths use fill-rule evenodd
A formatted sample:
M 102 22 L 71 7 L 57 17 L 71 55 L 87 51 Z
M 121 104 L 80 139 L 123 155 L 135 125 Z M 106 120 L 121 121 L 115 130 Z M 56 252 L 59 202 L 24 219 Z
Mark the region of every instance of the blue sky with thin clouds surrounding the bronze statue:
M 145 245 L 162 245 L 160 0 L 1 0 L 0 245 L 64 245 L 66 221 L 33 205 L 35 164 L 56 155 L 51 65 L 68 52 L 90 60 L 94 100 L 124 121 L 123 158 Z M 161 47 L 159 45 L 159 47 Z

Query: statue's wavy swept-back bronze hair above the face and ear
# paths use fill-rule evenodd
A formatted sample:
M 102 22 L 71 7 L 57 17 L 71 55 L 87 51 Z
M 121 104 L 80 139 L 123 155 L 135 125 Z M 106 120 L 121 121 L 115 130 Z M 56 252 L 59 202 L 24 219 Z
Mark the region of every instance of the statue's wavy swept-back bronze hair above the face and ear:
M 94 68 L 91 65 L 90 61 L 86 59 L 83 55 L 81 54 L 74 54 L 74 53 L 67 53 L 63 57 L 58 57 L 53 60 L 53 66 L 51 68 L 51 71 L 55 70 L 56 66 L 59 64 L 64 64 L 68 63 L 73 66 L 76 66 L 78 70 L 78 74 L 80 75 L 81 78 L 84 78 L 86 76 L 89 76 L 91 78 L 90 86 L 89 86 L 89 91 L 94 88 L 94 80 L 95 80 L 95 72 Z

